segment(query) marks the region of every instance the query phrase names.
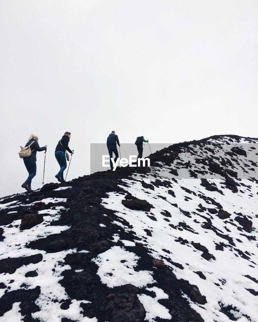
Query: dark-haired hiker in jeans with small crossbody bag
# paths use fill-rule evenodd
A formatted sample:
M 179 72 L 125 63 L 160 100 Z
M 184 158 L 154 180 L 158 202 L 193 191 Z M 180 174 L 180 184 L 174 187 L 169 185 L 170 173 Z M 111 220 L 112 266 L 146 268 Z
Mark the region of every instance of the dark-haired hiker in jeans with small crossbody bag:
M 64 170 L 66 169 L 66 156 L 65 151 L 67 150 L 70 153 L 74 153 L 74 151 L 71 151 L 71 149 L 68 147 L 69 141 L 71 138 L 71 132 L 65 132 L 61 140 L 58 142 L 56 148 L 55 148 L 55 158 L 60 166 L 60 170 L 57 175 L 55 175 L 56 179 L 64 183 Z

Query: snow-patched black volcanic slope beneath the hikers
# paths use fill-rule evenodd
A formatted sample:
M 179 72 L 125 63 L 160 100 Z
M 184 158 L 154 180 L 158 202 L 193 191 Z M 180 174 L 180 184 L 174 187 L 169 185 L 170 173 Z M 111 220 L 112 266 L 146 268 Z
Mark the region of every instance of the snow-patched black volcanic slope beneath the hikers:
M 258 139 L 0 200 L 0 322 L 257 322 Z

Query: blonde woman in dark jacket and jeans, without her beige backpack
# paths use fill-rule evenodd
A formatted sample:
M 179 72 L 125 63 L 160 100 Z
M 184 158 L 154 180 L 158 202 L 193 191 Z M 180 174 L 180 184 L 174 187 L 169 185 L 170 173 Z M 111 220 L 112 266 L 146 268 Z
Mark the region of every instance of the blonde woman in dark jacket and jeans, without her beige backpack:
M 30 144 L 31 144 L 30 149 L 32 151 L 31 155 L 27 156 L 26 158 L 23 158 L 23 161 L 24 161 L 25 167 L 29 173 L 29 176 L 28 176 L 27 180 L 22 184 L 22 188 L 25 188 L 27 191 L 32 191 L 31 190 L 31 180 L 36 175 L 36 170 L 37 170 L 36 154 L 37 154 L 37 151 L 46 151 L 46 149 L 47 149 L 47 145 L 45 145 L 45 147 L 39 147 L 38 137 L 34 134 L 32 134 L 29 137 L 28 142 L 26 143 L 25 147 L 27 147 Z

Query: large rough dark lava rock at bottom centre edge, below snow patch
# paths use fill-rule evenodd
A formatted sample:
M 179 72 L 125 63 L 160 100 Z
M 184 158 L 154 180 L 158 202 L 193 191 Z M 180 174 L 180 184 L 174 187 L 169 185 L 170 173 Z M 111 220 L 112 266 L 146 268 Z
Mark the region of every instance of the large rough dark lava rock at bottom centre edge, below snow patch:
M 124 285 L 116 293 L 107 295 L 106 313 L 110 322 L 143 321 L 145 310 L 137 298 L 137 289 L 133 285 Z

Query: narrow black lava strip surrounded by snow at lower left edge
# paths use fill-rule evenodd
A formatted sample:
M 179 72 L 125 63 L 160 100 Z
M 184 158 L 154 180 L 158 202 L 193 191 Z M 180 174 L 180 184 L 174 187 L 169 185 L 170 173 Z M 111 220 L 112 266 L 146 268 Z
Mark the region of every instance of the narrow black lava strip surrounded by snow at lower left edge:
M 36 254 L 31 256 L 25 256 L 25 257 L 17 257 L 17 258 L 5 258 L 3 260 L 0 260 L 0 274 L 1 273 L 9 273 L 13 274 L 17 268 L 23 266 L 23 265 L 29 265 L 29 264 L 36 264 L 39 263 L 42 260 L 42 254 Z

